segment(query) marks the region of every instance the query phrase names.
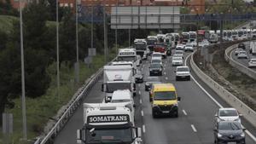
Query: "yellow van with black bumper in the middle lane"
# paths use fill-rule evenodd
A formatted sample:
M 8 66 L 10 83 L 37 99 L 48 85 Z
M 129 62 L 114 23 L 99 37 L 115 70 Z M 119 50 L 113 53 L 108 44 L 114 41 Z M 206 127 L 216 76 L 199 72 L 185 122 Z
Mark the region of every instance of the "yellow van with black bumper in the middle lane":
M 162 115 L 178 117 L 180 97 L 177 97 L 173 84 L 153 84 L 149 96 L 153 118 Z

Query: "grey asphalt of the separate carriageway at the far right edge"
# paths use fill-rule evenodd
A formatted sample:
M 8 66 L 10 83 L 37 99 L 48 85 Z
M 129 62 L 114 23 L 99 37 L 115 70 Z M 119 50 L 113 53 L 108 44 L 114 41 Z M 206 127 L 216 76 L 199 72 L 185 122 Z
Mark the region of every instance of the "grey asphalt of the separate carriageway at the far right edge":
M 249 59 L 237 59 L 237 56 L 235 55 L 236 49 L 234 49 L 230 52 L 230 58 L 233 60 L 236 60 L 236 62 L 239 62 L 241 65 L 248 67 L 248 60 L 256 59 L 256 55 L 250 54 L 249 53 L 249 49 L 250 49 L 249 43 L 245 43 L 245 44 L 246 44 L 246 51 L 247 51 L 247 55 L 248 55 Z M 256 72 L 256 67 L 251 67 L 251 69 L 254 72 Z

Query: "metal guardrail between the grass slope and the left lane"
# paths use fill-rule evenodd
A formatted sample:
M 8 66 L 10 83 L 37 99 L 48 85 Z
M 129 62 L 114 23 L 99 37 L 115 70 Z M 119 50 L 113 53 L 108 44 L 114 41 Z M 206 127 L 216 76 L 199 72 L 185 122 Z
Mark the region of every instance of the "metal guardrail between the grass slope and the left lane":
M 113 60 L 116 60 L 114 58 Z M 112 62 L 111 60 L 110 62 Z M 108 62 L 108 64 L 110 63 Z M 107 65 L 108 65 L 107 64 Z M 77 97 L 73 99 L 70 105 L 67 107 L 65 112 L 61 115 L 61 117 L 56 121 L 54 126 L 49 130 L 48 134 L 44 136 L 44 138 L 38 138 L 34 144 L 44 144 L 44 143 L 51 143 L 55 138 L 55 136 L 61 131 L 62 127 L 66 124 L 67 120 L 73 116 L 73 112 L 79 107 L 80 102 L 86 97 L 90 91 L 90 89 L 96 84 L 99 78 L 102 77 L 103 68 L 99 69 L 96 74 L 92 75 L 87 83 L 85 83 L 82 87 L 82 90 L 79 91 Z

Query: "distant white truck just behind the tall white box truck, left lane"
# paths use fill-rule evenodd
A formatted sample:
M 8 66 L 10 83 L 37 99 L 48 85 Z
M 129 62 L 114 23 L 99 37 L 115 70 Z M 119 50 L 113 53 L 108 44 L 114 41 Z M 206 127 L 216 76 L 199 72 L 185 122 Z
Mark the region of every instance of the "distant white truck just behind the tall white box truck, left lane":
M 118 61 L 132 61 L 139 65 L 140 61 L 137 60 L 136 49 L 119 49 Z

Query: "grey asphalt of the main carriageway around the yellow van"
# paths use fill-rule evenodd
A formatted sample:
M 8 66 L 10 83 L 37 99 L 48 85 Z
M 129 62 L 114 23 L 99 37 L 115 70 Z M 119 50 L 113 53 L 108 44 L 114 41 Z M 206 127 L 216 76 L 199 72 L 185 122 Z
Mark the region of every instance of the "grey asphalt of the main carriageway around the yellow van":
M 186 53 L 185 57 L 190 53 Z M 189 61 L 189 59 L 188 59 Z M 148 76 L 149 60 L 143 61 L 140 69 L 144 78 Z M 212 144 L 213 120 L 218 107 L 229 107 L 216 95 L 212 89 L 202 84 L 193 74 L 191 81 L 175 81 L 175 67 L 171 64 L 171 57 L 164 59 L 164 75 L 160 78 L 164 83 L 176 86 L 177 95 L 181 97 L 178 118 L 152 118 L 148 92 L 144 91 L 144 84 L 137 84 L 136 125 L 143 128 L 144 144 Z M 193 79 L 196 79 L 193 80 Z M 97 83 L 84 102 L 102 102 L 104 94 L 101 92 L 102 80 Z M 199 86 L 200 85 L 200 86 Z M 212 101 L 214 99 L 215 101 Z M 82 106 L 82 105 L 81 105 Z M 61 133 L 55 138 L 55 144 L 76 143 L 76 130 L 83 125 L 82 107 L 73 114 Z M 242 124 L 251 134 L 256 135 L 256 129 L 242 118 Z M 247 144 L 255 144 L 246 135 Z

